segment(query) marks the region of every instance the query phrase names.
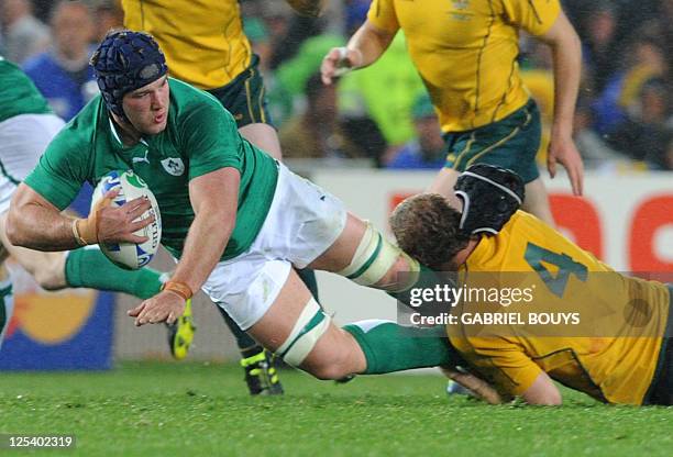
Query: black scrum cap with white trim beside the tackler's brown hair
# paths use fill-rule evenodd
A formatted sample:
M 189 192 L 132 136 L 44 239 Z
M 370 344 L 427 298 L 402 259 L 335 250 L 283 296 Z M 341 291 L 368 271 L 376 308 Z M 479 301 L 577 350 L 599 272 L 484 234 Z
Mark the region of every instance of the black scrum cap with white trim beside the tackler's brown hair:
M 453 191 L 463 201 L 460 228 L 496 235 L 523 203 L 526 188 L 515 171 L 487 164 L 470 166 Z

